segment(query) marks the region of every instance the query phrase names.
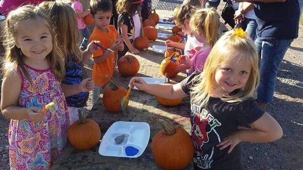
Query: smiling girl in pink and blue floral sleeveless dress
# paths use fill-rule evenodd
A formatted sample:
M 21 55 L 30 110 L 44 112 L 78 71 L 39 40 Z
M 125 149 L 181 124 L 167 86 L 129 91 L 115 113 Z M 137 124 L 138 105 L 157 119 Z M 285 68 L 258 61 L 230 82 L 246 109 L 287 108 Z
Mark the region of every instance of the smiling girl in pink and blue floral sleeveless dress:
M 11 169 L 50 169 L 67 142 L 69 114 L 60 82 L 64 58 L 39 7 L 23 6 L 5 21 L 2 114 L 9 127 Z M 41 112 L 44 105 L 55 106 Z

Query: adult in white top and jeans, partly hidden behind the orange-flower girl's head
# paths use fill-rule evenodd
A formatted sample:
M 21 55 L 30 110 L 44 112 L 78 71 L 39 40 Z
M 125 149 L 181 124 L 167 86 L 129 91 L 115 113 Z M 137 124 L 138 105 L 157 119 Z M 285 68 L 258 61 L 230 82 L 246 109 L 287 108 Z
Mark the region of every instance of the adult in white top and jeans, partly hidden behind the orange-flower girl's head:
M 254 4 L 251 3 L 239 3 L 239 8 L 234 15 L 235 23 L 238 27 L 247 32 L 248 36 L 252 39 L 256 39 L 257 21 L 254 12 Z

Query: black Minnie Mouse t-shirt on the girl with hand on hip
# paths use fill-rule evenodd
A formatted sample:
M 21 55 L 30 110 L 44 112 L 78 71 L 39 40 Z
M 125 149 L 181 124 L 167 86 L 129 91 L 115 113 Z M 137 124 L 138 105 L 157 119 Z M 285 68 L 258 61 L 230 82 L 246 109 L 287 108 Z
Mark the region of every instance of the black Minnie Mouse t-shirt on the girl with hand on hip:
M 199 74 L 200 72 L 194 72 L 181 82 L 181 88 L 186 94 L 190 95 L 192 85 L 198 83 L 192 79 Z M 228 103 L 220 98 L 210 97 L 206 107 L 201 107 L 192 99 L 190 103 L 195 169 L 244 169 L 240 144 L 229 154 L 229 147 L 220 150 L 216 145 L 234 133 L 238 126 L 247 126 L 258 120 L 265 111 L 254 98 Z

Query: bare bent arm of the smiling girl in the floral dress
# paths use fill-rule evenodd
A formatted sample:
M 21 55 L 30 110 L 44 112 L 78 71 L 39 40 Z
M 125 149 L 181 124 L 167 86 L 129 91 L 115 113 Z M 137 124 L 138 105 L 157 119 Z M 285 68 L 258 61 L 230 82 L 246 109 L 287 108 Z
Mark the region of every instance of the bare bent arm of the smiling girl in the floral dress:
M 34 122 L 41 122 L 43 114 L 37 107 L 19 107 L 18 99 L 21 91 L 21 78 L 18 73 L 5 77 L 2 82 L 1 111 L 4 117 L 12 120 L 30 118 Z

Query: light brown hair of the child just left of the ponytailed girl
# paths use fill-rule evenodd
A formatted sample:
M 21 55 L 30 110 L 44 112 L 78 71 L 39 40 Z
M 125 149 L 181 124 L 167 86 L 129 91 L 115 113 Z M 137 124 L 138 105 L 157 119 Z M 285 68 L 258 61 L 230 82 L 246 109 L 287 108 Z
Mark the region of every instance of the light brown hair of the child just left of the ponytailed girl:
M 184 25 L 185 20 L 190 20 L 191 16 L 197 9 L 197 7 L 188 4 L 176 8 L 176 10 L 174 11 L 174 21 L 176 25 L 179 27 L 181 25 Z

